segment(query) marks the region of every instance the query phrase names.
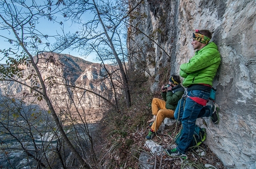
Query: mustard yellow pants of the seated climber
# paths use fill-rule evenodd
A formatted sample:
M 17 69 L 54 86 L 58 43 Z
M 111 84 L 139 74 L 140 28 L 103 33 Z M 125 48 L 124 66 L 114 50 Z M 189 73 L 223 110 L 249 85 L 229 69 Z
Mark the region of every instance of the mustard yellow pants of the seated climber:
M 156 132 L 166 117 L 174 118 L 174 110 L 166 109 L 166 101 L 160 98 L 153 98 L 151 106 L 152 114 L 156 116 L 151 130 Z

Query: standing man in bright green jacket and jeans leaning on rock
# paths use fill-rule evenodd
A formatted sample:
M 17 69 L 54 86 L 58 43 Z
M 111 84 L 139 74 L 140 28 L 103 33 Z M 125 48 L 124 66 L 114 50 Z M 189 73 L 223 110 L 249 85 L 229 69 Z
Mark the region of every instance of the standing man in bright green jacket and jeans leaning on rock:
M 177 107 L 180 109 L 176 109 L 174 118 L 182 122 L 183 130 L 179 145 L 165 150 L 171 157 L 186 158 L 197 118 L 211 117 L 214 124 L 218 123 L 218 105 L 206 106 L 221 60 L 218 47 L 210 42 L 211 37 L 209 30 L 196 30 L 191 43 L 196 50 L 195 55 L 188 63 L 180 65 L 180 76 L 184 78 L 182 84 L 186 87 L 186 95 L 179 101 Z

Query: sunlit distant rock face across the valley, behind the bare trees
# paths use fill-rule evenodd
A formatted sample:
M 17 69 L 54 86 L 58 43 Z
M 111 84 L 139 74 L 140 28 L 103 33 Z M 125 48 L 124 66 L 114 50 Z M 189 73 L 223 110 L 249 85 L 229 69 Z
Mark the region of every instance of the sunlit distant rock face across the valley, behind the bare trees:
M 87 114 L 89 114 L 88 119 L 90 122 L 99 120 L 102 114 L 93 110 L 101 110 L 105 106 L 105 101 L 98 95 L 113 101 L 113 84 L 111 84 L 110 79 L 106 78 L 106 76 L 107 71 L 113 72 L 114 67 L 110 65 L 105 65 L 104 67 L 99 63 L 88 62 L 71 55 L 57 55 L 56 53 L 43 53 L 39 58 L 38 67 L 45 81 L 48 96 L 51 98 L 52 104 L 57 107 L 57 110 L 61 112 L 67 106 L 70 110 L 76 108 L 78 110 L 83 109 L 88 111 Z M 32 66 L 23 66 L 23 69 L 24 77 L 35 73 Z M 52 79 L 57 84 L 49 85 L 51 77 L 54 77 Z M 118 79 L 114 77 L 114 74 L 113 78 Z M 113 83 L 115 83 L 115 79 Z M 32 84 L 29 78 L 24 79 L 23 82 L 29 85 Z M 74 85 L 77 88 L 71 87 Z M 116 93 L 118 94 L 118 92 L 117 89 Z M 0 82 L 0 94 L 15 95 L 15 98 L 27 98 L 28 95 L 33 95 L 30 89 L 24 85 L 4 81 Z M 38 104 L 42 108 L 46 106 L 46 103 L 43 101 L 38 102 Z M 74 105 L 77 107 L 74 107 Z M 47 110 L 47 107 L 45 109 Z M 76 116 L 76 114 L 73 115 Z

